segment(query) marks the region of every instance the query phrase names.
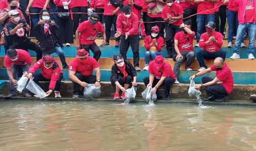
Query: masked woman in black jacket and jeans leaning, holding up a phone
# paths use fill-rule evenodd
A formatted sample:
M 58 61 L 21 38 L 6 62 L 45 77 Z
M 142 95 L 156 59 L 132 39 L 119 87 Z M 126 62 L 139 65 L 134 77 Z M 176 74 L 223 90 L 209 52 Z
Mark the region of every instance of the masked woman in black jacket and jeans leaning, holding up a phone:
M 40 12 L 40 21 L 36 24 L 35 30 L 39 33 L 42 55 L 57 53 L 59 59 L 61 59 L 63 69 L 68 68 L 65 55 L 58 41 L 58 26 L 55 21 L 50 20 L 50 14 L 47 10 Z

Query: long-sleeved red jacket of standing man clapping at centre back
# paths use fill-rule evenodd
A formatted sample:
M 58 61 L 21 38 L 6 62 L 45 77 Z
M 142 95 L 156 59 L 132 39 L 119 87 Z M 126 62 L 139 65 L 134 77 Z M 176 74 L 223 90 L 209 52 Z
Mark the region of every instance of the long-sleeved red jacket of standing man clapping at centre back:
M 139 34 L 139 21 L 137 15 L 132 13 L 129 18 L 124 16 L 124 13 L 117 16 L 117 32 L 121 32 L 122 35 L 126 35 L 129 32 L 129 36 Z

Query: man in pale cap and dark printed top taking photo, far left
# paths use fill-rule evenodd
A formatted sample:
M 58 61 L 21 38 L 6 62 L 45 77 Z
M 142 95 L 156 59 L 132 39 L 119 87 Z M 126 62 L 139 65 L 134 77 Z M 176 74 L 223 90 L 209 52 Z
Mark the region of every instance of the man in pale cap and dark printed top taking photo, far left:
M 26 37 L 25 30 L 30 31 L 30 26 L 26 24 L 25 20 L 20 19 L 19 11 L 11 10 L 9 14 L 10 18 L 12 18 L 12 22 L 7 25 L 7 30 L 13 37 L 13 45 L 10 48 L 23 49 L 26 51 L 30 49 L 36 52 L 36 60 L 40 60 L 42 58 L 41 48 Z

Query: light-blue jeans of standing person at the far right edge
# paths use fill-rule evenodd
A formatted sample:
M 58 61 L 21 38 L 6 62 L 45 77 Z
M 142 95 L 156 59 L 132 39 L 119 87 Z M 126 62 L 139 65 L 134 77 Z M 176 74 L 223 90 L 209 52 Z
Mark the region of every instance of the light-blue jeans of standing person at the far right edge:
M 248 31 L 249 38 L 249 54 L 254 53 L 255 49 L 255 36 L 256 36 L 256 24 L 255 23 L 244 23 L 239 24 L 236 34 L 236 43 L 233 52 L 239 54 L 241 43 L 243 42 L 243 36 Z

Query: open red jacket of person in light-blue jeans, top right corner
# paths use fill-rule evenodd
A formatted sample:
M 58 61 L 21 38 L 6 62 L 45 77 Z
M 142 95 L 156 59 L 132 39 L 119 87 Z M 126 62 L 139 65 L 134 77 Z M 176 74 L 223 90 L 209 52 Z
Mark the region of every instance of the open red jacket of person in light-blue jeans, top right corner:
M 244 13 L 246 12 L 246 3 L 245 0 L 235 0 L 233 5 L 238 9 L 238 24 L 244 24 Z M 254 7 L 254 22 L 256 22 L 256 0 L 253 0 Z

